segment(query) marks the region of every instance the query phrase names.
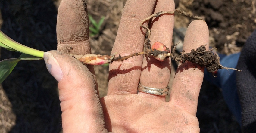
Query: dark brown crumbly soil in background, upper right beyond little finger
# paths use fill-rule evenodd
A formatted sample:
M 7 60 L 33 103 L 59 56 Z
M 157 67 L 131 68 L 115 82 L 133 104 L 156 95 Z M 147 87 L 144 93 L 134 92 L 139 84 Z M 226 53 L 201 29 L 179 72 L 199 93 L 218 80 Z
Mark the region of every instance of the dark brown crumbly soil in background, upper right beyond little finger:
M 255 5 L 255 0 L 194 0 L 191 10 L 205 19 L 218 51 L 230 54 L 256 29 Z

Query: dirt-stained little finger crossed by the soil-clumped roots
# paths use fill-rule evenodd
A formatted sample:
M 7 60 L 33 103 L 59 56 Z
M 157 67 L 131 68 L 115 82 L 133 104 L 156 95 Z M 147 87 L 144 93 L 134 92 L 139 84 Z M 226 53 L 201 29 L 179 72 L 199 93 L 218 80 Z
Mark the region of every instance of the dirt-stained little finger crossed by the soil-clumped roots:
M 209 42 L 209 30 L 204 20 L 194 20 L 190 23 L 185 39 L 183 50 L 189 53 Z M 207 45 L 206 50 L 208 50 Z M 204 67 L 198 64 L 185 62 L 179 64 L 173 79 L 170 91 L 170 104 L 182 107 L 189 113 L 195 115 L 197 110 L 198 95 L 204 76 Z

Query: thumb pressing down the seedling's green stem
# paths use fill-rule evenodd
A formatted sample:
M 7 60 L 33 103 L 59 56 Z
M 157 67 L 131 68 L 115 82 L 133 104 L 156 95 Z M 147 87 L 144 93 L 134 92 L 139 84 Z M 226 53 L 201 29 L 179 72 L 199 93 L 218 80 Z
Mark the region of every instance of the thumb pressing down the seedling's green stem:
M 60 51 L 44 53 L 48 71 L 59 82 L 64 132 L 102 132 L 104 116 L 95 80 L 86 66 Z

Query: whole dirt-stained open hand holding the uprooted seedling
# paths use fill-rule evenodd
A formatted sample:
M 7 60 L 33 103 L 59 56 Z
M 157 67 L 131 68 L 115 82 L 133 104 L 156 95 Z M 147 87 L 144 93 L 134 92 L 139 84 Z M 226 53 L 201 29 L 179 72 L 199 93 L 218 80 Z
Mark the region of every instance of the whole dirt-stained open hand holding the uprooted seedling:
M 87 10 L 87 9 L 86 9 Z M 62 0 L 58 11 L 58 50 L 89 54 L 88 19 L 82 0 Z M 128 0 L 123 9 L 112 53 L 121 56 L 143 51 L 145 30 L 139 23 L 154 11 L 173 11 L 169 0 Z M 86 16 L 86 17 L 85 17 Z M 145 23 L 145 25 L 148 22 Z M 153 20 L 151 43 L 160 41 L 171 49 L 174 15 Z M 190 52 L 208 43 L 209 32 L 202 20 L 193 21 L 186 32 L 183 50 Z M 143 56 L 110 64 L 107 96 L 99 99 L 93 67 L 73 57 L 49 51 L 44 58 L 50 73 L 59 81 L 64 132 L 199 132 L 196 118 L 198 94 L 204 69 L 197 64 L 180 64 L 165 96 L 138 92 L 139 82 L 152 88 L 168 85 L 171 61 L 160 62 Z M 68 53 L 70 54 L 70 53 Z M 198 69 L 199 68 L 199 69 Z

